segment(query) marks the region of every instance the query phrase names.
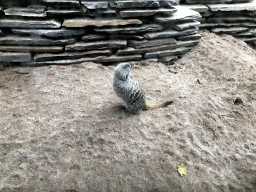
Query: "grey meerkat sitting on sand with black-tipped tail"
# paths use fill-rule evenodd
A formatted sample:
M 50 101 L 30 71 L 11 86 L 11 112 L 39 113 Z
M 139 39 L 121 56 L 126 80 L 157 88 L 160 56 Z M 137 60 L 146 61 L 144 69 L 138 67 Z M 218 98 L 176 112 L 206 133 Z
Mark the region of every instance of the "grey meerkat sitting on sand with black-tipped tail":
M 114 91 L 124 101 L 125 108 L 128 112 L 136 114 L 140 110 L 166 107 L 173 103 L 173 101 L 167 101 L 159 104 L 149 104 L 146 101 L 145 91 L 142 85 L 130 77 L 133 66 L 133 62 L 120 63 L 114 68 L 112 80 Z

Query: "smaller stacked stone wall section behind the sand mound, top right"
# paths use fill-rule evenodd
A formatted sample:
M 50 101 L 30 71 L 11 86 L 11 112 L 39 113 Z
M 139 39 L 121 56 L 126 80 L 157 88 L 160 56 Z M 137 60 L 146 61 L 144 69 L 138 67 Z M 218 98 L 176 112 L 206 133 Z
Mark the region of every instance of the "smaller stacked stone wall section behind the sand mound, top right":
M 199 1 L 190 1 L 199 3 Z M 214 1 L 205 1 L 206 4 L 182 6 L 198 11 L 200 29 L 208 29 L 217 34 L 226 33 L 249 43 L 256 43 L 256 1 L 222 1 L 226 3 L 212 4 Z M 241 3 L 242 2 L 242 3 Z

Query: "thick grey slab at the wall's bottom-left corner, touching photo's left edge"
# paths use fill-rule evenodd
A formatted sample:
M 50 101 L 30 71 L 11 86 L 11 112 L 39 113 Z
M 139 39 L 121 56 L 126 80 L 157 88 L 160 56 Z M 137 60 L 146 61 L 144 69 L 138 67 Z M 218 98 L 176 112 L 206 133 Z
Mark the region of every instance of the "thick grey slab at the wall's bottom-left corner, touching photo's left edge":
M 2 62 L 29 62 L 29 61 L 31 61 L 31 54 L 30 53 L 0 52 L 0 61 L 2 61 Z

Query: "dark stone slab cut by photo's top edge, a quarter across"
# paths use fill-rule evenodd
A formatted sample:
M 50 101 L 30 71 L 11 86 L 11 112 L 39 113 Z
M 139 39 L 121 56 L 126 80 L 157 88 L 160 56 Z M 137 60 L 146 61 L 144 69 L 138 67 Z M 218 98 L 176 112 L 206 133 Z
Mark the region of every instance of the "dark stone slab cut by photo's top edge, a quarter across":
M 79 0 L 42 0 L 42 2 L 51 7 L 80 8 Z

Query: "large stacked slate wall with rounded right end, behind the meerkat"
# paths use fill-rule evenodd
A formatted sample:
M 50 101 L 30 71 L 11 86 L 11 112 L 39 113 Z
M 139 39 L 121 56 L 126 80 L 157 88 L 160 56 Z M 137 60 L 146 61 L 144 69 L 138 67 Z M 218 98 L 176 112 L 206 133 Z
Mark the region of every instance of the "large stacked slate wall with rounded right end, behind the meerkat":
M 0 62 L 169 62 L 198 43 L 200 18 L 179 0 L 2 0 Z

